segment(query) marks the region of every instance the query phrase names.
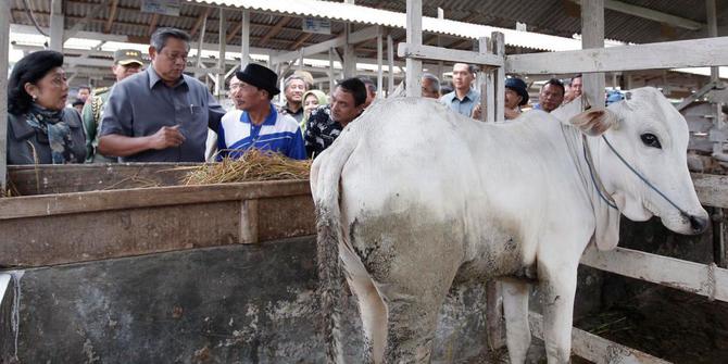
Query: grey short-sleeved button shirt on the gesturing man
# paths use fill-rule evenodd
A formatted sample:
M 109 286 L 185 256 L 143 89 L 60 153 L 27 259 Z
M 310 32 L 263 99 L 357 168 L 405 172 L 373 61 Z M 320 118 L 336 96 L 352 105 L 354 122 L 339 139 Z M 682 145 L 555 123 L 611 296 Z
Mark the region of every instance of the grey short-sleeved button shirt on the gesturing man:
M 225 110 L 199 80 L 183 75 L 168 87 L 150 66 L 124 78 L 109 96 L 101 136 L 146 137 L 163 126 L 179 125 L 185 142 L 163 150 L 146 150 L 121 162 L 204 162 L 208 127 L 217 131 Z

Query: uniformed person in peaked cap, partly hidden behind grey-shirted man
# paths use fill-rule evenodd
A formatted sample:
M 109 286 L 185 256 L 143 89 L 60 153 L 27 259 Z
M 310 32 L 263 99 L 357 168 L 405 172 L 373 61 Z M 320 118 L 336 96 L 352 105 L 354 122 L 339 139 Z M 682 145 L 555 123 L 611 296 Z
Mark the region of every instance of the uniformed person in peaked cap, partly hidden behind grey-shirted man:
M 141 61 L 141 52 L 136 49 L 120 49 L 114 52 L 114 65 L 111 72 L 116 76 L 116 81 L 139 73 L 145 63 Z M 112 86 L 113 87 L 113 86 Z M 81 118 L 86 130 L 86 162 L 109 163 L 116 162 L 115 158 L 106 158 L 97 152 L 99 147 L 99 133 L 101 131 L 101 115 L 109 100 L 112 87 L 96 89 L 90 102 L 84 105 Z

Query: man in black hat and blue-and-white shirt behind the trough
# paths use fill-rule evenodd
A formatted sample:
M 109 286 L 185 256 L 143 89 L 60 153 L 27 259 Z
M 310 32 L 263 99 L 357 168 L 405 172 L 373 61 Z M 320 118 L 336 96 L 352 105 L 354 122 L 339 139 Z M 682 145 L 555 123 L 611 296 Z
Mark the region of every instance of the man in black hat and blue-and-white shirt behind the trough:
M 306 154 L 299 124 L 290 115 L 277 112 L 271 102 L 274 96 L 280 93 L 276 87 L 276 73 L 250 63 L 246 70 L 238 71 L 236 77 L 240 83 L 230 86 L 236 110 L 223 116 L 217 159 L 237 159 L 255 148 L 304 160 Z

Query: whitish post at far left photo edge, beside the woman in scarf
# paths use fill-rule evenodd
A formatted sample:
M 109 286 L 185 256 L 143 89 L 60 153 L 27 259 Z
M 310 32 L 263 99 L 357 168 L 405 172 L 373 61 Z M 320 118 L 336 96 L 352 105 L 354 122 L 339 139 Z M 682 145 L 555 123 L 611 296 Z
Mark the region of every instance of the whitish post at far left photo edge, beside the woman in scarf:
M 10 2 L 0 1 L 0 196 L 7 191 L 8 176 L 8 39 L 10 38 Z

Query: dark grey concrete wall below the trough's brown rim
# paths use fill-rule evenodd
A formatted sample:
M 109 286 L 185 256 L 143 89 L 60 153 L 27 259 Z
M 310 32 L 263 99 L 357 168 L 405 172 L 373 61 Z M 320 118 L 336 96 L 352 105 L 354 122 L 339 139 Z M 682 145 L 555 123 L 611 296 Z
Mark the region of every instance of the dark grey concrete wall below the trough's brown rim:
M 205 248 L 33 268 L 20 279 L 22 363 L 321 363 L 314 327 L 315 241 Z M 3 302 L 2 309 L 10 306 Z M 348 298 L 347 354 L 361 357 Z M 442 310 L 435 362 L 485 347 L 485 289 L 454 288 Z M 2 316 L 2 357 L 14 335 Z M 354 319 L 356 318 L 356 319 Z

